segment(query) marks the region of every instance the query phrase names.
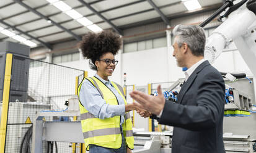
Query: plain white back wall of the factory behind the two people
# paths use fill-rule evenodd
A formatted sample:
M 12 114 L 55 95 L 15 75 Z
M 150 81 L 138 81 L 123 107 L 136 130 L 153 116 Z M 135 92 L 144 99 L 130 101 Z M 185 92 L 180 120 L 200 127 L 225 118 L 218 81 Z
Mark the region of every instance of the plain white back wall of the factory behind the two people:
M 143 86 L 148 83 L 176 81 L 179 78 L 184 78 L 182 68 L 177 67 L 175 58 L 167 55 L 167 47 L 119 53 L 116 59 L 120 62 L 118 62 L 110 79 L 123 85 L 123 73 L 126 73 L 126 85 Z M 172 55 L 172 52 L 170 55 Z M 170 65 L 168 65 L 168 62 Z M 61 63 L 61 65 L 86 70 L 89 76 L 92 76 L 95 71 L 90 70 L 88 63 L 88 60 L 82 59 Z M 245 72 L 247 75 L 252 76 L 239 51 L 234 50 L 234 48 L 226 49 L 216 59 L 213 66 L 220 72 Z M 168 71 L 170 71 L 170 76 L 168 76 Z

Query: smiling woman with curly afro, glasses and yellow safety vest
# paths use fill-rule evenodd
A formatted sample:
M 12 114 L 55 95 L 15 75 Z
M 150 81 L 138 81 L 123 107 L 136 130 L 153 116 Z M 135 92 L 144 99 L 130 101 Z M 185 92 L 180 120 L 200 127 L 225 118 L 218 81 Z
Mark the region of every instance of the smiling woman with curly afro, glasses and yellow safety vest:
M 131 152 L 133 131 L 129 112 L 137 109 L 127 104 L 123 88 L 108 80 L 118 60 L 115 54 L 121 38 L 112 31 L 87 33 L 82 38 L 82 55 L 89 59 L 94 77 L 84 78 L 78 88 L 82 133 L 90 153 Z

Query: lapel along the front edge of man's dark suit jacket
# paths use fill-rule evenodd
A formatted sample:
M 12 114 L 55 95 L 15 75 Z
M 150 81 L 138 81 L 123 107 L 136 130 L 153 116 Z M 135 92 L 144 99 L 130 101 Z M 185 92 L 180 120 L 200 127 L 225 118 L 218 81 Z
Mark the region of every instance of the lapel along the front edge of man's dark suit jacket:
M 188 78 L 188 80 L 182 85 L 182 88 L 180 89 L 180 93 L 178 95 L 178 103 L 181 104 L 182 103 L 182 99 L 185 95 L 185 93 L 187 92 L 187 90 L 190 88 L 190 86 L 192 85 L 193 81 L 195 80 L 197 74 L 204 68 L 206 67 L 206 65 L 210 65 L 210 63 L 208 62 L 208 60 L 206 60 L 205 62 L 201 63 L 196 69 L 195 71 L 190 75 L 190 77 Z

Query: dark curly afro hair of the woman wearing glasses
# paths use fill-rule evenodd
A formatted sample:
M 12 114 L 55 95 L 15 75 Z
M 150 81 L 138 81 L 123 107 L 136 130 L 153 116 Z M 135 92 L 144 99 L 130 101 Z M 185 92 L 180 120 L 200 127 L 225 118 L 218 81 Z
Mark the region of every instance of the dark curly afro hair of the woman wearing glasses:
M 120 46 L 120 35 L 110 30 L 104 30 L 100 33 L 89 32 L 82 37 L 82 41 L 79 43 L 82 55 L 89 59 L 89 65 L 92 70 L 97 70 L 96 60 L 99 60 L 107 52 L 112 52 L 115 56 Z

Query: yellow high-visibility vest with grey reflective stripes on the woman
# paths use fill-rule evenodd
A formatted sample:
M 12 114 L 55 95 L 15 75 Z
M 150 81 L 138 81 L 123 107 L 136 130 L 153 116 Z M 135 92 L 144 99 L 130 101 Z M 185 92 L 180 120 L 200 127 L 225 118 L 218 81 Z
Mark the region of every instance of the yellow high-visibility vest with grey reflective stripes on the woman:
M 113 92 L 96 77 L 84 78 L 92 83 L 97 88 L 102 98 L 110 105 L 118 105 L 117 97 Z M 84 81 L 82 80 L 82 82 Z M 77 89 L 77 96 L 79 97 L 82 82 Z M 125 104 L 125 96 L 123 94 L 123 88 L 117 83 L 111 81 L 113 87 L 117 89 L 118 93 L 123 97 Z M 84 135 L 84 143 L 86 150 L 89 151 L 89 144 L 95 144 L 97 146 L 107 147 L 111 149 L 119 149 L 121 147 L 121 131 L 120 131 L 120 116 L 111 118 L 100 119 L 90 114 L 88 110 L 84 108 L 79 100 L 79 108 L 81 113 L 81 125 L 82 133 Z M 130 149 L 134 149 L 134 138 L 131 117 L 129 113 L 125 114 L 125 122 L 122 124 L 123 135 L 125 137 L 126 146 Z

